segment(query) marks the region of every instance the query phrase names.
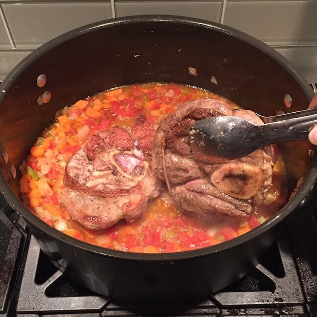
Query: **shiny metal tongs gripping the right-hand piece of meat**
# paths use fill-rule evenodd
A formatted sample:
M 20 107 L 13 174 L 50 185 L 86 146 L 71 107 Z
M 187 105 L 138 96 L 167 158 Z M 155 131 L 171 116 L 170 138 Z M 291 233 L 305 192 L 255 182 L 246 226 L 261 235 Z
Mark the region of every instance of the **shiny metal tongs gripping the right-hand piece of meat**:
M 248 155 L 263 145 L 283 141 L 305 140 L 317 124 L 317 109 L 264 117 L 263 125 L 230 116 L 197 121 L 189 135 L 195 151 L 224 159 Z

